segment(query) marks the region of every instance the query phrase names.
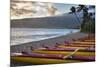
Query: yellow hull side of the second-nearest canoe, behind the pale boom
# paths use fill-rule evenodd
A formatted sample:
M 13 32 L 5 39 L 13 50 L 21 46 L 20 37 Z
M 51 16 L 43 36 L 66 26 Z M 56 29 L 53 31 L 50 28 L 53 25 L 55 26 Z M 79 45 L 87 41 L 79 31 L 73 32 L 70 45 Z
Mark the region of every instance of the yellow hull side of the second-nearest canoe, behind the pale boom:
M 40 53 L 40 54 L 63 54 L 68 55 L 72 53 L 73 51 L 45 51 L 45 50 L 33 50 L 34 53 Z M 74 55 L 80 55 L 80 56 L 95 56 L 95 52 L 76 52 Z

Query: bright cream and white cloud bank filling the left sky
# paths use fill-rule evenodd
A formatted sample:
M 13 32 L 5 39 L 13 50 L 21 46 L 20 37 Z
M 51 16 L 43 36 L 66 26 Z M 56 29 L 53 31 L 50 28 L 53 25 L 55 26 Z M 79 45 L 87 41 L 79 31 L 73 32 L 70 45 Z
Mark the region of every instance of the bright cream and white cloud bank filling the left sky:
M 45 17 L 59 14 L 52 3 L 11 0 L 11 17 Z

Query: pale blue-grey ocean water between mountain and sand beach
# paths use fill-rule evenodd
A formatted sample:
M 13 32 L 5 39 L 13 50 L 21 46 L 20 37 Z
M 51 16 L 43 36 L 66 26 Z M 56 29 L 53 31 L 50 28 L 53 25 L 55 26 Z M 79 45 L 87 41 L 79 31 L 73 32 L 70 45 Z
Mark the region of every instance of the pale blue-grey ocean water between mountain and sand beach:
M 75 32 L 79 32 L 79 29 L 11 28 L 10 39 L 11 45 L 20 45 Z

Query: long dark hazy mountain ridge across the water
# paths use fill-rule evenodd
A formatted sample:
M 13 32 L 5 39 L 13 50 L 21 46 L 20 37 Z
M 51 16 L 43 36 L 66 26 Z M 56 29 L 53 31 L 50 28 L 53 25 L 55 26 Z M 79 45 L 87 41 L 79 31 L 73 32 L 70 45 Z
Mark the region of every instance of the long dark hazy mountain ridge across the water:
M 77 28 L 79 24 L 75 15 L 68 13 L 51 17 L 11 20 L 11 27 L 17 28 Z

